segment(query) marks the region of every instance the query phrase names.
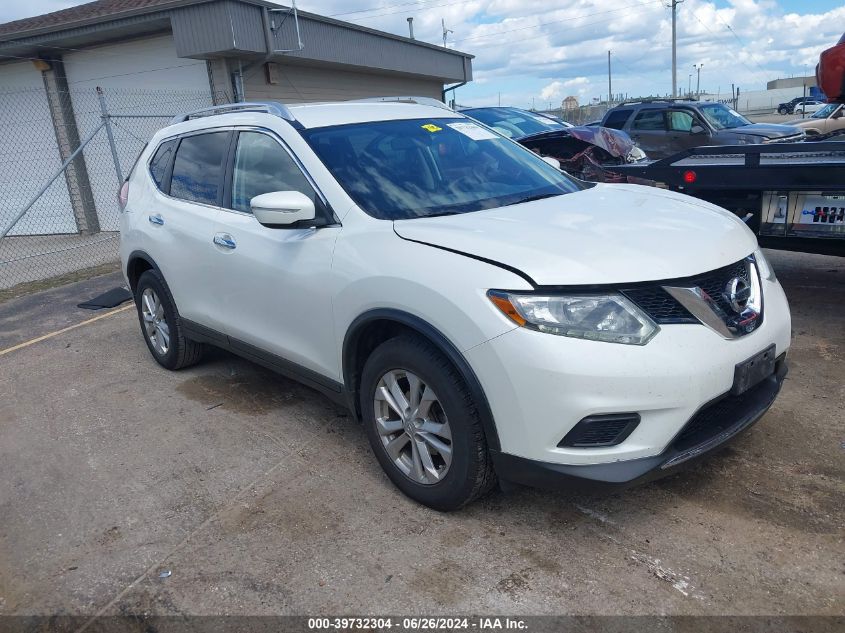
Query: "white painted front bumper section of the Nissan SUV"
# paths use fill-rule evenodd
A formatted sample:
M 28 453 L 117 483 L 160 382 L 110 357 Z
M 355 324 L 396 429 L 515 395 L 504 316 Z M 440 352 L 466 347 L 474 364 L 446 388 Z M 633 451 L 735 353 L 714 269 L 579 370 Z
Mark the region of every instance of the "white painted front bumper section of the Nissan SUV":
M 776 281 L 764 280 L 763 286 L 763 322 L 738 339 L 726 340 L 698 324 L 662 326 L 642 346 L 515 328 L 467 350 L 493 413 L 495 448 L 509 456 L 500 461 L 518 461 L 513 456 L 560 466 L 658 462 L 703 407 L 731 391 L 739 363 L 772 345 L 776 358 L 789 349 L 786 297 Z M 587 417 L 633 413 L 639 425 L 621 443 L 562 442 Z

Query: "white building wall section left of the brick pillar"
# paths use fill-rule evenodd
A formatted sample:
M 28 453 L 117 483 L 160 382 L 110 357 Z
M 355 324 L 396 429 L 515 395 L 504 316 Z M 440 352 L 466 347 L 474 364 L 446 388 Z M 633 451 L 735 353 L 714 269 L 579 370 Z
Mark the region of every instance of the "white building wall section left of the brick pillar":
M 61 166 L 44 80 L 31 62 L 0 65 L 0 231 Z M 59 177 L 9 235 L 75 233 Z

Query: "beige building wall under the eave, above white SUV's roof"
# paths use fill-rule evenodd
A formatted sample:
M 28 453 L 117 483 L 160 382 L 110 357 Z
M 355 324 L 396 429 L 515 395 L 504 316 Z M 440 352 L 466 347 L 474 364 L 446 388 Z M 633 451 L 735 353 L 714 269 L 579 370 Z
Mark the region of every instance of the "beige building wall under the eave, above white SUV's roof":
M 278 83 L 267 82 L 264 65 L 244 72 L 244 90 L 250 100 L 283 103 L 349 101 L 367 97 L 415 95 L 439 99 L 443 84 L 437 80 L 399 75 L 377 75 L 329 68 L 275 64 Z

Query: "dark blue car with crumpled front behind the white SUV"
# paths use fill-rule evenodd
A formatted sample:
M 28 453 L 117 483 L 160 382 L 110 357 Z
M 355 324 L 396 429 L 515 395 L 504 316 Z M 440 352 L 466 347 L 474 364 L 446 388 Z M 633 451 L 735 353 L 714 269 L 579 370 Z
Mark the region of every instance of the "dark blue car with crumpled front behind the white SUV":
M 519 108 L 463 108 L 466 114 L 520 145 L 556 159 L 562 169 L 582 180 L 615 182 L 622 177 L 608 167 L 646 160 L 645 153 L 619 130 L 573 126 Z

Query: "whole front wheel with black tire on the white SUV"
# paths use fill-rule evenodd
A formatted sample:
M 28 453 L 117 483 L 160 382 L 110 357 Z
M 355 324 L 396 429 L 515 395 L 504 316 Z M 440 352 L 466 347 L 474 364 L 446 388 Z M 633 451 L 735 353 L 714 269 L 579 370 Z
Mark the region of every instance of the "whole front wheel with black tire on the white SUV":
M 373 452 L 407 496 L 457 510 L 495 485 L 469 389 L 425 340 L 400 336 L 379 345 L 364 365 L 359 395 Z

